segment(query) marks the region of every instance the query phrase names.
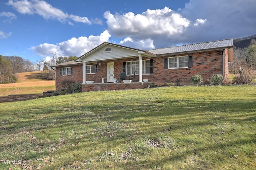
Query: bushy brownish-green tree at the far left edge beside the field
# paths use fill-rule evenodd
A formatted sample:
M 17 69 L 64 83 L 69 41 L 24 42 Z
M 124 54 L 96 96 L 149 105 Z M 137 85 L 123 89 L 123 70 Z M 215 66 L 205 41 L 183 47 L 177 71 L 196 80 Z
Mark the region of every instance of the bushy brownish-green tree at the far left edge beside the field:
M 12 64 L 4 56 L 0 55 L 0 84 L 12 82 Z

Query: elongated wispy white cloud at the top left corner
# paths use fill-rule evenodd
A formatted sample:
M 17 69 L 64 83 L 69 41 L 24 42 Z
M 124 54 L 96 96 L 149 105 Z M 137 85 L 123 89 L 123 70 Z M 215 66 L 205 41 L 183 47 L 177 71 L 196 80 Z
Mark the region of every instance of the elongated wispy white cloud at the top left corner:
M 7 4 L 13 6 L 13 8 L 21 14 L 38 14 L 46 20 L 55 19 L 60 22 L 72 20 L 75 22 L 92 24 L 88 18 L 64 13 L 62 10 L 54 8 L 44 0 L 9 0 Z M 71 22 L 69 21 L 69 24 L 70 23 Z

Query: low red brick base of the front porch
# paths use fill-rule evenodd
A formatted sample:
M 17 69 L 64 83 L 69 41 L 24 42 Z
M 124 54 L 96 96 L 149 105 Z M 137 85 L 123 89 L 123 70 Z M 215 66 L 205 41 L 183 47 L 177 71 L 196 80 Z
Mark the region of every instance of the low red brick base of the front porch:
M 82 84 L 82 92 L 149 88 L 153 82 Z

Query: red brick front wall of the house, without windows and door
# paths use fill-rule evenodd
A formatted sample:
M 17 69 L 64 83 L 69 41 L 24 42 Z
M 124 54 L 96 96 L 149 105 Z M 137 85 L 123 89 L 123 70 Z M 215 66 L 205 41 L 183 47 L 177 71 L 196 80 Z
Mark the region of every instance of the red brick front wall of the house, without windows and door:
M 181 85 L 192 84 L 190 77 L 195 74 L 200 74 L 204 80 L 210 79 L 213 74 L 223 74 L 228 77 L 228 55 L 227 50 L 224 51 L 224 60 L 222 61 L 222 51 L 206 51 L 192 53 L 193 55 L 193 67 L 191 68 L 178 68 L 178 69 L 166 69 L 164 68 L 164 58 L 166 57 L 153 57 L 154 60 L 154 73 L 150 75 L 142 75 L 142 79 L 149 79 L 149 82 L 154 82 L 156 85 L 166 85 L 168 82 L 176 83 L 179 79 Z M 174 57 L 183 56 L 177 55 Z M 142 57 L 142 60 L 148 59 Z M 120 79 L 120 72 L 123 71 L 123 62 L 126 61 L 137 61 L 138 57 L 132 59 L 112 60 L 112 61 L 101 61 L 98 62 L 98 73 L 86 74 L 87 81 L 94 81 L 94 83 L 101 83 L 104 78 L 105 83 L 107 82 L 107 63 L 114 62 L 115 66 L 115 77 Z M 222 73 L 222 62 L 224 62 L 224 72 Z M 101 65 L 99 65 L 101 63 Z M 87 64 L 88 65 L 88 64 Z M 83 65 L 73 66 L 73 74 L 70 76 L 60 76 L 60 68 L 56 70 L 56 90 L 62 88 L 60 82 L 65 78 L 76 81 L 76 83 L 83 82 Z M 127 76 L 128 78 L 128 76 Z M 138 75 L 132 82 L 138 82 Z

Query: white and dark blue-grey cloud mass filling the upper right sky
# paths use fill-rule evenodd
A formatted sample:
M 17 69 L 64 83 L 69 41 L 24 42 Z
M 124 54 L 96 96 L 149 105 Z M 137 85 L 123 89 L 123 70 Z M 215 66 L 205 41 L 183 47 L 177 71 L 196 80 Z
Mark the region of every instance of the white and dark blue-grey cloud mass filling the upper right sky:
M 120 42 L 123 45 L 140 45 L 150 40 L 160 48 L 256 33 L 254 0 L 190 0 L 182 9 L 173 11 L 170 8 L 148 9 L 141 14 L 107 11 L 104 18 L 113 37 L 132 40 L 124 39 Z

